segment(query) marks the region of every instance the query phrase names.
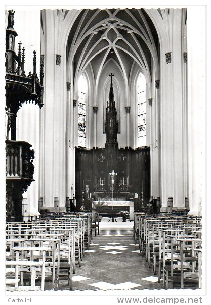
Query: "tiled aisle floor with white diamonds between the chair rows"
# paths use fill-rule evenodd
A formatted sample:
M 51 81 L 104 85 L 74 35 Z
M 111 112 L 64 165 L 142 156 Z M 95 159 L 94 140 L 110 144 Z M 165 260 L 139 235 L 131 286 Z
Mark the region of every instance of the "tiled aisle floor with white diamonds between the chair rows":
M 145 257 L 140 256 L 138 245 L 134 245 L 133 230 L 123 226 L 123 230 L 103 229 L 93 236 L 81 267 L 76 265 L 72 290 L 162 289 L 162 281 L 158 283 Z M 64 289 L 68 287 L 61 282 L 60 290 Z

